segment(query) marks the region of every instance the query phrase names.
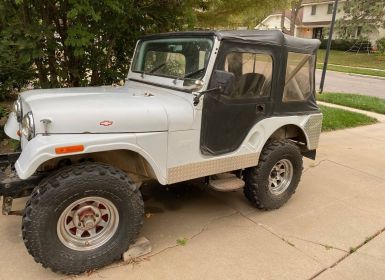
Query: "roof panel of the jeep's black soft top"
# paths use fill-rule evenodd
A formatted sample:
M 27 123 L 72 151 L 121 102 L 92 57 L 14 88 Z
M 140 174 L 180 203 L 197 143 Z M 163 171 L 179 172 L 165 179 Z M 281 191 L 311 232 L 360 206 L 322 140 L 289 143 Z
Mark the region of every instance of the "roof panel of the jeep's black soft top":
M 303 39 L 282 33 L 279 30 L 234 30 L 234 31 L 186 31 L 169 32 L 143 36 L 141 39 L 156 39 L 170 36 L 216 36 L 220 41 L 241 41 L 273 45 L 287 48 L 288 51 L 313 54 L 321 42 L 317 39 Z

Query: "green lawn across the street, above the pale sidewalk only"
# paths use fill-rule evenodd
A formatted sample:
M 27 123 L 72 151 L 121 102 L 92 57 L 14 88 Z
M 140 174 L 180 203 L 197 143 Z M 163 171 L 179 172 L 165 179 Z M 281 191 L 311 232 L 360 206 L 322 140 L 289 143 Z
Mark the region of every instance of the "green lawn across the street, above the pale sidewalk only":
M 325 59 L 325 50 L 319 50 L 317 53 L 317 62 L 323 64 Z M 354 67 L 367 67 L 385 70 L 385 57 L 378 54 L 367 54 L 355 52 L 343 52 L 343 51 L 330 51 L 329 63 L 354 66 Z

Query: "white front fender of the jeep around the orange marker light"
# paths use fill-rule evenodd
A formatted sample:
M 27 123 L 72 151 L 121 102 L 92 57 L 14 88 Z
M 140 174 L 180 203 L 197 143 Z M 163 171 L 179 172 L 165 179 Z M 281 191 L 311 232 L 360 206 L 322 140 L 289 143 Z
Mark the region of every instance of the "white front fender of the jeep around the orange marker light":
M 155 145 L 156 144 L 156 145 Z M 143 156 L 150 164 L 160 183 L 166 182 L 167 133 L 119 133 L 119 134 L 56 134 L 37 135 L 27 145 L 15 163 L 18 176 L 27 179 L 44 162 L 62 157 L 55 148 L 83 145 L 84 151 L 66 155 L 88 154 L 111 150 L 130 150 Z

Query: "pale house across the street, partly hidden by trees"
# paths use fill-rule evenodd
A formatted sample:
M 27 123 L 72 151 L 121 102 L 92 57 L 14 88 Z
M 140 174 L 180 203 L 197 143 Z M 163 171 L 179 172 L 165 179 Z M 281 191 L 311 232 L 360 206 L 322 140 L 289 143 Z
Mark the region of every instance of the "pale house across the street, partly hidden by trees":
M 343 5 L 346 0 L 339 0 L 337 8 L 337 19 L 344 16 Z M 296 19 L 294 36 L 303 38 L 323 39 L 326 37 L 327 30 L 333 15 L 333 0 L 303 0 L 301 9 Z M 286 13 L 285 13 L 286 15 Z M 290 17 L 285 18 L 285 27 L 290 26 Z M 256 29 L 281 29 L 281 13 L 272 14 L 264 19 Z M 358 27 L 352 38 L 358 38 L 361 35 L 361 28 Z M 369 40 L 374 43 L 377 39 L 385 36 L 385 29 L 381 28 L 376 32 L 369 34 Z M 337 39 L 338 34 L 333 34 L 333 39 Z

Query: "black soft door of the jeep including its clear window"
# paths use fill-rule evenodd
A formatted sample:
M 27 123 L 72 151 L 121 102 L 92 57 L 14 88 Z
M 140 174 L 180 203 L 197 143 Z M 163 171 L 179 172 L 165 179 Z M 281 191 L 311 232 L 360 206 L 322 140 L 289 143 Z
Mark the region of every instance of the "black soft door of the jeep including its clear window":
M 207 93 L 204 97 L 201 152 L 209 155 L 236 150 L 270 112 L 273 57 L 255 46 L 222 48 L 215 69 L 234 73 L 235 84 L 230 95 Z

